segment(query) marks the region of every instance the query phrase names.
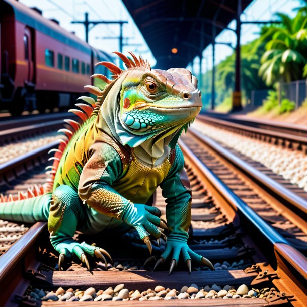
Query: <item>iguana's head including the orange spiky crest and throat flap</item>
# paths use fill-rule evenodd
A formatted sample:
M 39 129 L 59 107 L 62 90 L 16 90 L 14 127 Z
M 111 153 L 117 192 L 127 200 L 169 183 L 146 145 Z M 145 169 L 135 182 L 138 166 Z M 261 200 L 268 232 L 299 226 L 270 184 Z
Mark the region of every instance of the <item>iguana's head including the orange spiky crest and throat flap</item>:
M 108 83 L 98 95 L 98 101 L 102 102 L 101 117 L 112 134 L 118 135 L 123 144 L 131 147 L 152 137 L 156 141 L 161 141 L 162 137 L 170 140 L 175 134 L 179 137 L 202 107 L 195 76 L 183 68 L 154 70 L 148 61 L 136 58 L 131 52 L 133 59 L 115 53 L 128 70 L 113 63 L 100 62 L 98 64 L 113 73 L 114 80 L 94 75 Z M 96 89 L 94 91 L 97 93 Z

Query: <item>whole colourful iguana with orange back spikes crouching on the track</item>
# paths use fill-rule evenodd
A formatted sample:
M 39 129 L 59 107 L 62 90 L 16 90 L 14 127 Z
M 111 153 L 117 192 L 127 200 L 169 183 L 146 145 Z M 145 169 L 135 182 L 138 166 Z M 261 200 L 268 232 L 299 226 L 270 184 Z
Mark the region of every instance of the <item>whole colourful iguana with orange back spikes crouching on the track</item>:
M 59 148 L 51 150 L 55 154 L 49 182 L 30 190 L 30 198 L 20 194 L 18 200 L 1 204 L 0 218 L 48 221 L 52 246 L 60 253 L 59 269 L 73 254 L 90 269 L 87 255 L 105 262 L 104 255 L 110 255 L 75 241 L 75 231 L 96 234 L 134 227 L 151 250 L 149 235 L 159 238 L 158 227 L 166 227 L 160 210 L 146 205 L 160 186 L 170 233 L 156 266 L 171 258 L 171 273 L 181 255 L 189 273 L 191 260 L 214 269 L 187 245 L 192 193 L 177 145 L 202 106 L 197 79 L 182 68 L 151 69 L 147 60 L 132 52 L 131 57 L 114 53 L 127 69 L 110 62 L 97 64 L 112 72 L 112 80 L 94 74 L 106 82 L 104 90 L 85 86 L 97 100 L 82 96 L 86 103 L 69 110 L 82 123 L 65 120 L 69 129 L 59 130 L 64 135 Z

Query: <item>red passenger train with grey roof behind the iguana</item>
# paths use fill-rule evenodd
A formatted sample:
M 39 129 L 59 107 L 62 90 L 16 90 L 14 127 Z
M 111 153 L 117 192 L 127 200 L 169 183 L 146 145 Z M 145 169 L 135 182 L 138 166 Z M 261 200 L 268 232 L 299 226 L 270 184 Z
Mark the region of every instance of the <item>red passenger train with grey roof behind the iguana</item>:
M 46 19 L 18 0 L 0 0 L 0 109 L 23 111 L 67 108 L 85 85 L 104 87 L 90 78 L 110 72 L 100 61 L 113 58 Z

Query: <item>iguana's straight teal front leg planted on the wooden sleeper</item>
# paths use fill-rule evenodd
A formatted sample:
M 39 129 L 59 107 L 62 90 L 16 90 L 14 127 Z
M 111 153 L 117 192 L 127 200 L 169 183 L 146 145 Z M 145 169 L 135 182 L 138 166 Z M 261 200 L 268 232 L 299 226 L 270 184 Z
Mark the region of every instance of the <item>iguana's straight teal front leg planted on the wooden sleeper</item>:
M 192 193 L 186 184 L 187 175 L 184 170 L 184 160 L 179 146 L 176 146 L 176 156 L 174 164 L 161 184 L 162 195 L 166 198 L 166 217 L 170 230 L 167 238 L 165 251 L 162 253 L 161 258 L 156 263 L 155 268 L 167 258 L 172 257 L 170 265 L 170 274 L 176 267 L 180 254 L 184 262 L 187 264 L 189 273 L 191 272 L 191 260 L 198 265 L 206 265 L 214 270 L 212 263 L 193 252 L 188 244 L 188 228 L 191 223 L 191 201 Z

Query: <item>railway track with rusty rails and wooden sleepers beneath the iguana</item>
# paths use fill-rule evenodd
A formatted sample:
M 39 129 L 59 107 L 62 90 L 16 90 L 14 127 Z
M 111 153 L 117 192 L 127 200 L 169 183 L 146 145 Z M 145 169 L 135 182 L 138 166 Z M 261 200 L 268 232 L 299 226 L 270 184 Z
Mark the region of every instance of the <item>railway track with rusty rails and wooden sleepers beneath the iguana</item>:
M 0 288 L 7 289 L 1 293 L 1 301 L 8 302 L 7 305 L 44 306 L 63 305 L 65 298 L 70 300 L 65 302 L 67 306 L 108 304 L 100 300 L 117 299 L 127 301 L 114 301 L 112 305 L 306 305 L 307 261 L 298 251 L 304 252 L 301 229 L 296 224 L 286 229 L 280 227 L 284 220 L 276 221 L 276 212 L 260 217 L 261 212 L 255 212 L 257 205 L 262 204 L 259 195 L 252 197 L 254 192 L 244 186 L 240 188 L 240 182 L 230 178 L 233 175 L 229 170 L 225 172 L 212 158 L 209 163 L 203 161 L 205 149 L 195 136 L 188 134 L 180 145 L 193 189 L 193 231 L 190 231 L 189 244 L 212 261 L 215 271 L 196 266 L 188 275 L 185 264 L 179 264 L 178 271 L 171 276 L 168 276 L 168 266 L 152 272 L 155 262 L 143 264 L 149 254 L 133 233 L 118 238 L 119 244 L 114 244 L 116 240 L 100 242 L 99 237 L 87 237 L 88 242 L 97 243 L 111 253 L 114 264 L 107 265 L 108 271 L 103 271 L 105 264 L 94 259 L 90 262 L 91 272 L 76 259 L 66 264 L 67 271 L 57 271 L 57 256 L 48 244 L 45 224 L 36 223 L 1 256 Z M 28 179 L 24 178 L 26 186 L 45 179 L 40 175 L 44 163 L 46 160 L 37 165 L 36 175 L 33 171 Z M 33 177 L 36 179 L 31 181 Z M 223 182 L 226 179 L 227 185 Z M 11 181 L 10 189 L 5 192 L 17 193 L 16 180 L 21 179 Z M 234 193 L 238 191 L 240 197 Z M 271 200 L 273 197 L 269 196 L 261 197 Z M 256 201 L 248 203 L 252 199 Z M 156 206 L 164 211 L 165 202 L 160 193 L 157 193 Z M 291 211 L 284 215 L 288 217 L 287 214 L 290 216 Z M 84 239 L 82 235 L 78 237 Z M 161 240 L 160 245 L 163 248 L 165 242 Z M 156 253 L 159 249 L 154 244 Z

